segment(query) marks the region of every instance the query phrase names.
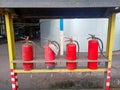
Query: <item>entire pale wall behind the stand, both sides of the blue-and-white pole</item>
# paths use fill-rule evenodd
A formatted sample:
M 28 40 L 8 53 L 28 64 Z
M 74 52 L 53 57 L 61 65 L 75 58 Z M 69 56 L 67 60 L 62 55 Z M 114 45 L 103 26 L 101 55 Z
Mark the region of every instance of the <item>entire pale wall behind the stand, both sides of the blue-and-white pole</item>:
M 120 15 L 117 15 L 115 28 L 114 50 L 120 50 Z M 59 42 L 59 19 L 41 19 L 41 45 L 44 46 L 47 39 Z M 64 19 L 64 35 L 72 36 L 80 44 L 80 52 L 87 51 L 88 34 L 95 34 L 101 38 L 106 50 L 108 19 Z M 64 43 L 66 44 L 66 43 Z M 65 48 L 64 48 L 65 49 Z

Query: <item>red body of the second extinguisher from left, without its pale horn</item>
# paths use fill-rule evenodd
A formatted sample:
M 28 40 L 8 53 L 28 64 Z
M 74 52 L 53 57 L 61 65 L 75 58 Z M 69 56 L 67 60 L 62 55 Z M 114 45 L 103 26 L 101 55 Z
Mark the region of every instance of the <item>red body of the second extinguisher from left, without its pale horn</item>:
M 53 62 L 46 62 L 46 66 L 54 66 L 55 62 L 55 53 L 49 48 L 49 45 L 45 45 L 44 47 L 44 55 L 45 55 L 45 60 L 52 60 Z

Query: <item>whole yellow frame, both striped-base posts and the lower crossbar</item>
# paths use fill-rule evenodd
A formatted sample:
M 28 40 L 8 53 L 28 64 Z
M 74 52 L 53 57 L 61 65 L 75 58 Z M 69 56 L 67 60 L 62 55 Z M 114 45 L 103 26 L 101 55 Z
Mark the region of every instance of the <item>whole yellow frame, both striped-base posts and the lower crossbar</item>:
M 109 25 L 108 25 L 108 34 L 107 34 L 107 46 L 106 46 L 106 56 L 108 61 L 106 62 L 106 68 L 91 70 L 91 69 L 76 69 L 76 70 L 67 70 L 67 69 L 39 69 L 39 70 L 17 70 L 15 66 L 17 62 L 16 59 L 16 50 L 15 50 L 15 41 L 14 41 L 14 30 L 13 30 L 13 14 L 0 10 L 2 14 L 5 15 L 6 23 L 6 33 L 8 41 L 8 53 L 9 53 L 9 63 L 11 71 L 11 81 L 12 81 L 12 90 L 18 90 L 18 78 L 17 73 L 43 73 L 43 72 L 104 72 L 105 73 L 105 84 L 104 90 L 110 90 L 110 77 L 111 77 L 111 66 L 112 66 L 112 48 L 114 40 L 114 28 L 115 28 L 115 19 L 116 13 L 112 13 L 109 16 Z M 22 62 L 23 63 L 23 62 Z M 26 62 L 27 63 L 27 62 Z M 37 63 L 37 62 L 36 62 Z

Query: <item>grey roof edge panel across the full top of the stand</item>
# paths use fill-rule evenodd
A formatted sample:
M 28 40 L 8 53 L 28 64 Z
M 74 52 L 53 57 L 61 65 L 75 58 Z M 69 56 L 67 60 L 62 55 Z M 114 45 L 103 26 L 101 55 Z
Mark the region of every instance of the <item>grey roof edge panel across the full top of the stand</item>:
M 0 0 L 0 7 L 116 7 L 120 0 Z

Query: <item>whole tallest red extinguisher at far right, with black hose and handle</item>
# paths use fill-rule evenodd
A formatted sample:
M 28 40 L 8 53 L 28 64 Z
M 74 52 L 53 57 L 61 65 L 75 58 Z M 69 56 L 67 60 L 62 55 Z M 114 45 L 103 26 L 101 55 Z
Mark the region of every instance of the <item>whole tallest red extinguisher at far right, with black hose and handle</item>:
M 103 52 L 103 42 L 100 38 L 95 37 L 95 35 L 89 34 L 91 39 L 88 41 L 88 60 L 98 60 L 98 48 L 100 53 Z M 101 47 L 99 42 L 101 42 Z M 97 69 L 98 63 L 97 62 L 88 62 L 89 69 Z

